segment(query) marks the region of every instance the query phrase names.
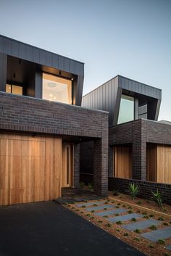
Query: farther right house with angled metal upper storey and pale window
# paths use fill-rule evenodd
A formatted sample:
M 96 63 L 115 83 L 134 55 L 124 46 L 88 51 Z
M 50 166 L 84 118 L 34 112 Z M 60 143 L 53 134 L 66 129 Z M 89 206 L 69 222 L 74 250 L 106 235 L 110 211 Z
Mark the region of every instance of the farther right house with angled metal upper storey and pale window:
M 117 75 L 83 96 L 82 106 L 109 112 L 109 189 L 163 191 L 171 203 L 171 125 L 157 122 L 159 88 Z M 80 146 L 80 179 L 93 180 L 93 141 Z

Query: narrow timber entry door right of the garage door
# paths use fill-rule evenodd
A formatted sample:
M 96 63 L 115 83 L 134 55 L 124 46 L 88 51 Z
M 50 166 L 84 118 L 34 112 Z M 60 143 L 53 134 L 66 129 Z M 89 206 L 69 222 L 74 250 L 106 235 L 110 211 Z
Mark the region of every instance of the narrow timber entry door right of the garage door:
M 62 187 L 72 186 L 72 144 L 62 145 Z

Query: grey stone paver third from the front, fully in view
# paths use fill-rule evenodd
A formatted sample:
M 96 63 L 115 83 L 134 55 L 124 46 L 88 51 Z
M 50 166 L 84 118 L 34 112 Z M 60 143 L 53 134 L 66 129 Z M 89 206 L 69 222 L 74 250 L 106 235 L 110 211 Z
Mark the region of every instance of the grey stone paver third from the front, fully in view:
M 141 228 L 148 228 L 152 225 L 159 225 L 159 220 L 141 220 L 141 221 L 136 221 L 135 223 L 130 223 L 127 225 L 122 226 L 125 229 L 128 229 L 130 231 L 133 231 L 135 229 L 141 229 Z

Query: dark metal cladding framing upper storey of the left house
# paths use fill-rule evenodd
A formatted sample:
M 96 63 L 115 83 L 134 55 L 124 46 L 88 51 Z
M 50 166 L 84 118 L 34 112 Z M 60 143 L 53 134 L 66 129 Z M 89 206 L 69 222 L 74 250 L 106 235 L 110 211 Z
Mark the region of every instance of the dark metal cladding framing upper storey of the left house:
M 5 84 L 7 82 L 7 59 L 9 57 L 15 57 L 30 62 L 32 68 L 34 65 L 36 66 L 36 72 L 41 71 L 54 75 L 62 73 L 62 76 L 66 78 L 71 79 L 73 77 L 77 81 L 73 95 L 74 102 L 77 105 L 81 104 L 84 78 L 83 62 L 59 54 L 54 54 L 50 51 L 39 49 L 38 47 L 0 35 L 0 91 L 5 91 Z M 37 87 L 34 95 L 41 98 L 41 84 L 39 78 L 40 76 L 37 74 Z

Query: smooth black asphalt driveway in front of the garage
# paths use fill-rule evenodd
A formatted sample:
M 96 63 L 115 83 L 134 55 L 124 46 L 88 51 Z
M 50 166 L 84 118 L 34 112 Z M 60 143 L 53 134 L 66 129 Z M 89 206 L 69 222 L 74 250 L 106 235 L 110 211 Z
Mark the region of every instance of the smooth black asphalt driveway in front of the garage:
M 1 256 L 143 256 L 57 202 L 0 207 Z

